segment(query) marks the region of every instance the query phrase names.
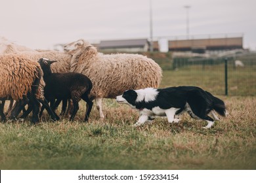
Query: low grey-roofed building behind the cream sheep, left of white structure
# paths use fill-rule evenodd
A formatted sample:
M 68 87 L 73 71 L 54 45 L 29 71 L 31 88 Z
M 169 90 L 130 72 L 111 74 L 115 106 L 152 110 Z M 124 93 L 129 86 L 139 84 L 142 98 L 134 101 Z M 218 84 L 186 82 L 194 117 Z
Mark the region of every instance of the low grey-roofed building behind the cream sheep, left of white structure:
M 148 39 L 130 39 L 100 41 L 99 50 L 106 52 L 147 52 L 150 46 Z

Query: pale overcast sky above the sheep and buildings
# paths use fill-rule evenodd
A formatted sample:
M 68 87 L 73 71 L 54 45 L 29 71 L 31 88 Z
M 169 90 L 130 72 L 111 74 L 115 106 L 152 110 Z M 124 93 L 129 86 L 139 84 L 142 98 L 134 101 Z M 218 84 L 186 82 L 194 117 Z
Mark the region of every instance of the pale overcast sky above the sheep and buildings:
M 150 0 L 0 0 L 0 37 L 29 48 L 85 39 L 150 38 Z M 152 0 L 153 36 L 243 33 L 256 50 L 255 0 Z

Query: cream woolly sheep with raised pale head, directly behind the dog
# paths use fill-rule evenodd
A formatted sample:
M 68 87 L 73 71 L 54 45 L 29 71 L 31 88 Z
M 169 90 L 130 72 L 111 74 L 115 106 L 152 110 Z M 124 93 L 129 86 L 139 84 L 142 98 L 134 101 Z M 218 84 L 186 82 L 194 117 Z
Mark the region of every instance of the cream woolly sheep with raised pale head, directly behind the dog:
M 93 82 L 90 97 L 95 99 L 100 117 L 102 99 L 115 98 L 125 90 L 158 88 L 161 68 L 152 59 L 139 54 L 101 54 L 95 46 L 80 39 L 64 46 L 72 54 L 70 71 L 83 73 Z

